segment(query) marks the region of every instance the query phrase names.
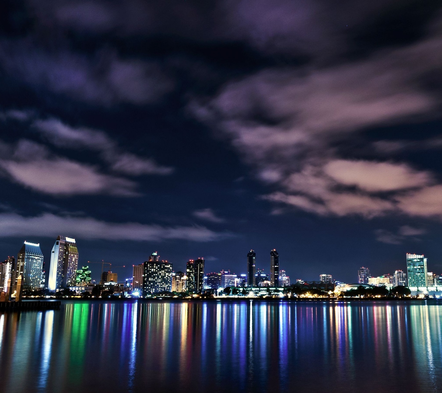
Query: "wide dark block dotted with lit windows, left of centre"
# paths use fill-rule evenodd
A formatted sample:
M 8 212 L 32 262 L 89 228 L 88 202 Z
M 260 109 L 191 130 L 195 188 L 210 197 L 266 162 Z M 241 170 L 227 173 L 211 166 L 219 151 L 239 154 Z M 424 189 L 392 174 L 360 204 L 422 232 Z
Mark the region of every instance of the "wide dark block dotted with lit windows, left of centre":
M 172 264 L 168 261 L 146 261 L 144 263 L 143 294 L 172 290 Z

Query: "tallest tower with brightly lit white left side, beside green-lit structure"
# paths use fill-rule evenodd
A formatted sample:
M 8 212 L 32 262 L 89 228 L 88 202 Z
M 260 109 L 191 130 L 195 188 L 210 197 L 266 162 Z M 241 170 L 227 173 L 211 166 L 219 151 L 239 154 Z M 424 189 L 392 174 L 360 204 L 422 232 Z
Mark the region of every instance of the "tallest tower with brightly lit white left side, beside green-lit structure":
M 78 249 L 75 239 L 58 236 L 52 248 L 48 288 L 57 290 L 76 284 Z

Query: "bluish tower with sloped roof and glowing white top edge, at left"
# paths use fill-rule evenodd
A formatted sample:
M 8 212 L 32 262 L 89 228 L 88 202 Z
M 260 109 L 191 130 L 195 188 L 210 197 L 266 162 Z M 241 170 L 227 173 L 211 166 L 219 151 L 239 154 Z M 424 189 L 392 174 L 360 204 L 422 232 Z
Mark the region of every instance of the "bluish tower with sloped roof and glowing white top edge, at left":
M 24 242 L 17 255 L 14 290 L 17 289 L 19 276 L 22 276 L 23 290 L 36 290 L 42 287 L 43 254 L 40 243 Z

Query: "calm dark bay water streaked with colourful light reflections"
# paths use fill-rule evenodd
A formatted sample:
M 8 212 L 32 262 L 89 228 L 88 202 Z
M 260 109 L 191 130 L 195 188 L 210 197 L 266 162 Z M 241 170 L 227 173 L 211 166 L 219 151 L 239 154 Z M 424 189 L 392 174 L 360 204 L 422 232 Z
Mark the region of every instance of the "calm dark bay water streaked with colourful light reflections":
M 441 392 L 441 317 L 418 301 L 0 313 L 0 391 Z

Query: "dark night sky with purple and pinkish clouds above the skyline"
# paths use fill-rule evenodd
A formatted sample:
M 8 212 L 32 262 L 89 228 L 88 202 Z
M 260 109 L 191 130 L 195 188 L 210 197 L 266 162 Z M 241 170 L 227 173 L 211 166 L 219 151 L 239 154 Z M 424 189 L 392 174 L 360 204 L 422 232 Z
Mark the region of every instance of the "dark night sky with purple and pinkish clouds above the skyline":
M 441 69 L 437 1 L 2 1 L 0 259 L 441 274 Z

